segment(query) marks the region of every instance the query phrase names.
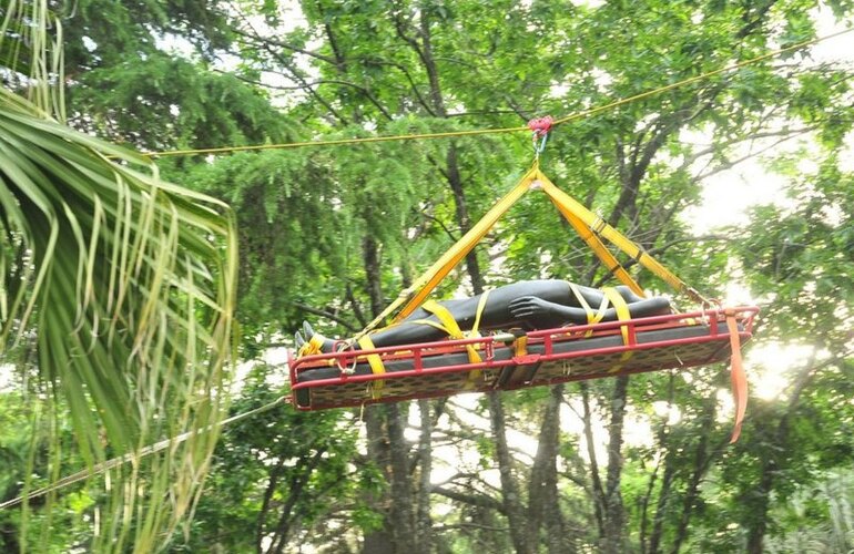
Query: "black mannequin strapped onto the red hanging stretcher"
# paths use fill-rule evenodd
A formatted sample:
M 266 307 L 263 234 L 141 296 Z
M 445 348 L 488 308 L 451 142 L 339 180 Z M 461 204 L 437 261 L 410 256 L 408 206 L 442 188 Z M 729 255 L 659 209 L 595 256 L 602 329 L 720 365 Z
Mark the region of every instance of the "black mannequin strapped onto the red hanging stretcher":
M 632 318 L 671 312 L 670 300 L 665 297 L 641 298 L 626 286 L 614 287 L 613 290 L 626 301 Z M 484 296 L 486 299 L 478 325 L 478 329 L 482 330 L 511 328 L 532 330 L 586 325 L 588 314 L 591 311 L 596 314 L 596 322 L 617 319 L 617 309 L 604 290 L 561 279 L 518 281 L 489 290 L 484 295 L 462 300 L 441 300 L 437 304 L 450 312 L 460 329 L 471 330 Z M 608 307 L 609 302 L 610 307 Z M 399 324 L 370 334 L 370 340 L 376 348 L 431 342 L 448 336 L 447 331 L 440 327 L 441 321 L 437 315 L 418 308 Z M 315 332 L 307 321 L 303 322 L 303 334 L 305 336 L 297 331 L 294 336 L 301 353 L 332 352 L 336 342 L 342 343 Z M 304 348 L 306 345 L 309 346 Z

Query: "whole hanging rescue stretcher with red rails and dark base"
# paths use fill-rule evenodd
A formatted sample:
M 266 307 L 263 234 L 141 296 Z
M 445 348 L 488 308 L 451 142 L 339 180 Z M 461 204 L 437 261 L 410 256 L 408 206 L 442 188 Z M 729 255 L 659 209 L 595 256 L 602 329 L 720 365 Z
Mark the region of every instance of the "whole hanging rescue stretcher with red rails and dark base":
M 525 334 L 439 340 L 288 358 L 299 410 L 516 390 L 582 379 L 708 366 L 750 340 L 756 307 L 709 309 Z M 471 356 L 471 351 L 478 356 Z M 376 355 L 376 369 L 368 357 Z

